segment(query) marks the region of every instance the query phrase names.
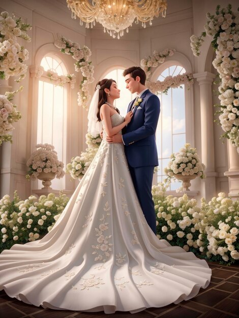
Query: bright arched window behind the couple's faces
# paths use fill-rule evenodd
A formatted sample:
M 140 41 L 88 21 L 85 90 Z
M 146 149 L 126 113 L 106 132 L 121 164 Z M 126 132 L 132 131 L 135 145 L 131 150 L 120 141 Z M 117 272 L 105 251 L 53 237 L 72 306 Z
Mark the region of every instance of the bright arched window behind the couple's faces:
M 116 81 L 118 88 L 121 90 L 121 98 L 115 100 L 114 105 L 117 107 L 122 116 L 127 114 L 129 103 L 134 98 L 131 92 L 126 88 L 125 78 L 123 76 L 125 68 L 114 69 L 103 76 L 103 78 L 112 78 Z

